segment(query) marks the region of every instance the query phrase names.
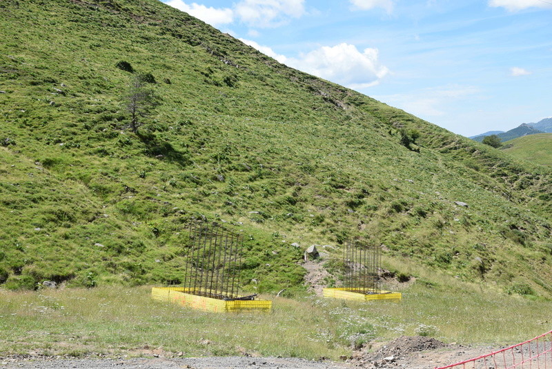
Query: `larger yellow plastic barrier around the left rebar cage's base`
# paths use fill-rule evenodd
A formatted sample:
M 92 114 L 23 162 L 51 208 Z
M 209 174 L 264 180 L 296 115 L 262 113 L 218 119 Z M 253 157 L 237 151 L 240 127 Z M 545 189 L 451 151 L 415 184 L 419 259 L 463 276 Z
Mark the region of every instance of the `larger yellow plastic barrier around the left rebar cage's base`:
M 188 293 L 191 292 L 191 293 Z M 201 292 L 199 288 L 153 287 L 152 299 L 177 303 L 181 306 L 206 310 L 210 312 L 270 312 L 272 301 L 268 300 L 233 300 L 225 301 L 194 295 Z

